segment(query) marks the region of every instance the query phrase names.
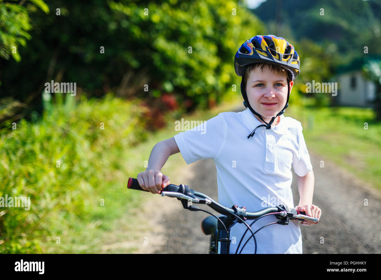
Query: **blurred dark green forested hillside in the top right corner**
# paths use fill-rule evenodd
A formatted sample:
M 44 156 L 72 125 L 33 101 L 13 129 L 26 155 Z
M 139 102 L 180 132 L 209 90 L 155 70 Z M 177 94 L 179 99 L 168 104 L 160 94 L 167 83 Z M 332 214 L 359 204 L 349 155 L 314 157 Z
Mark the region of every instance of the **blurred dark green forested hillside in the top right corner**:
M 334 43 L 341 53 L 359 53 L 364 44 L 381 53 L 380 10 L 380 0 L 267 0 L 253 13 L 285 37 Z

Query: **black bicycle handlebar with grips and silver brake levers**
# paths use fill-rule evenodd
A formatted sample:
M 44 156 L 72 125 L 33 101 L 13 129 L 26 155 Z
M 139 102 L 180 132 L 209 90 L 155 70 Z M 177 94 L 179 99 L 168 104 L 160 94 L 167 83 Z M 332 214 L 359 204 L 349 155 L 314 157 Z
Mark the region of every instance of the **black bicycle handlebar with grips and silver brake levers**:
M 140 187 L 138 180 L 134 179 L 134 178 L 128 179 L 127 188 L 133 189 L 133 190 L 143 190 Z M 145 191 L 148 192 L 148 190 L 145 190 Z M 179 193 L 179 194 L 174 194 L 174 193 Z M 189 186 L 184 185 L 184 184 L 181 184 L 179 186 L 174 185 L 174 184 L 169 184 L 168 186 L 166 186 L 165 188 L 160 190 L 159 194 L 162 194 L 162 196 L 167 195 L 170 197 L 176 197 L 178 200 L 187 199 L 187 200 L 191 200 L 194 203 L 207 204 L 213 210 L 217 211 L 220 214 L 226 215 L 226 216 L 235 213 L 235 211 L 232 208 L 227 208 L 227 207 L 219 204 L 218 202 L 216 202 L 212 198 L 208 197 L 207 195 L 205 195 L 201 192 L 196 192 L 196 191 L 190 189 Z M 197 196 L 201 199 L 194 197 L 194 196 Z M 235 206 L 237 208 L 237 205 L 235 205 Z M 246 208 L 244 207 L 244 209 L 246 209 Z M 277 213 L 277 212 L 279 212 L 278 207 L 267 207 L 267 208 L 264 208 L 264 209 L 256 211 L 256 212 L 245 212 L 245 215 L 246 215 L 248 220 L 254 220 L 254 219 L 257 219 L 260 216 L 263 216 L 265 214 Z M 312 218 L 312 217 L 306 216 L 305 211 L 298 211 L 298 210 L 290 208 L 290 211 L 286 211 L 286 212 L 287 212 L 288 218 L 290 218 L 290 219 L 295 219 L 298 221 L 309 220 L 309 221 L 319 222 L 319 219 L 317 219 L 317 218 Z

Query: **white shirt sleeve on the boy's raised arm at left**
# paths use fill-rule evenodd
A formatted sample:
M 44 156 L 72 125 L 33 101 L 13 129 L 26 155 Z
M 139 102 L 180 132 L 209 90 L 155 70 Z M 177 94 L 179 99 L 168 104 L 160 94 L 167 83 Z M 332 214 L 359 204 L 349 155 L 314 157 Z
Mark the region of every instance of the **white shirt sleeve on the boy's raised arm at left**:
M 191 121 L 177 121 L 179 126 L 186 128 Z M 194 128 L 180 132 L 173 136 L 177 146 L 187 164 L 200 159 L 218 156 L 226 138 L 226 122 L 221 114 L 213 117 Z

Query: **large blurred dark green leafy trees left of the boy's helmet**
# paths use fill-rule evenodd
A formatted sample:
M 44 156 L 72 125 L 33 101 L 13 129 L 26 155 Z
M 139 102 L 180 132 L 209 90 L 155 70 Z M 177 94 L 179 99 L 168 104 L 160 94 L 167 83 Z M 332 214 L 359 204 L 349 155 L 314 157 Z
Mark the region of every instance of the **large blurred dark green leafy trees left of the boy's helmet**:
M 49 6 L 61 14 L 36 11 L 25 61 L 5 61 L 2 72 L 5 94 L 32 108 L 41 107 L 50 80 L 76 82 L 89 96 L 113 90 L 155 102 L 171 94 L 180 104 L 206 107 L 232 88 L 235 52 L 262 30 L 232 0 L 51 0 Z

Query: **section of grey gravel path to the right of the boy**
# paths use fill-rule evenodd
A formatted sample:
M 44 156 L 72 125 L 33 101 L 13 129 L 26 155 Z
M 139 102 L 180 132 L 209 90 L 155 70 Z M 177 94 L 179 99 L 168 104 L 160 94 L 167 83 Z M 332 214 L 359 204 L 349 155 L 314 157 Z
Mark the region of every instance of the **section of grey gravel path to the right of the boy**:
M 322 209 L 315 226 L 302 226 L 303 253 L 381 253 L 381 195 L 343 168 L 310 152 L 314 167 L 313 203 Z M 320 161 L 324 160 L 324 168 Z M 295 175 L 294 175 L 295 176 Z M 294 201 L 299 201 L 294 180 Z M 368 206 L 364 200 L 368 200 Z M 324 244 L 320 244 L 324 237 Z

